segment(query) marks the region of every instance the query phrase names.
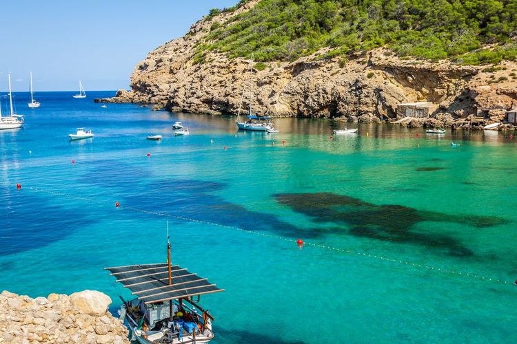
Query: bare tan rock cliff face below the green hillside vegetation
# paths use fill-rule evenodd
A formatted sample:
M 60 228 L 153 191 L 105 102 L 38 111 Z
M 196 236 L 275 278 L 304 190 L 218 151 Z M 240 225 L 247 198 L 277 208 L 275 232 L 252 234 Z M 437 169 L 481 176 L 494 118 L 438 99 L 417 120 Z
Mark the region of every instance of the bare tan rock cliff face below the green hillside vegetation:
M 446 125 L 486 110 L 489 121 L 503 120 L 517 105 L 517 63 L 462 66 L 449 61 L 428 62 L 398 58 L 378 48 L 367 54 L 320 58 L 323 49 L 294 62 L 256 65 L 206 52 L 195 63 L 196 44 L 213 23 L 225 23 L 250 10 L 248 1 L 234 12 L 223 12 L 192 25 L 185 36 L 150 52 L 134 68 L 131 90 L 119 91 L 113 103 L 156 103 L 170 111 L 198 114 L 237 114 L 248 106 L 243 90 L 253 74 L 254 109 L 272 116 L 307 116 L 346 120 L 394 120 L 400 103 L 432 102 L 434 118 Z M 224 25 L 224 24 L 223 24 Z M 242 100 L 243 99 L 243 100 Z

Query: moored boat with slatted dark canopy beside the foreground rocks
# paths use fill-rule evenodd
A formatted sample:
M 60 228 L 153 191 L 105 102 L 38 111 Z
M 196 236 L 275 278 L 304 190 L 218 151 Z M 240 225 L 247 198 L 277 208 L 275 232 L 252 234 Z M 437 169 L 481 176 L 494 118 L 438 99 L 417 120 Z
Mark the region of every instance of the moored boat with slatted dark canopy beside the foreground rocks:
M 132 341 L 142 344 L 208 343 L 214 338 L 214 317 L 199 305 L 201 294 L 222 292 L 215 284 L 173 266 L 170 258 L 169 222 L 167 222 L 167 263 L 140 264 L 105 268 L 135 299 L 119 310 L 127 320 Z M 197 299 L 194 300 L 194 297 Z

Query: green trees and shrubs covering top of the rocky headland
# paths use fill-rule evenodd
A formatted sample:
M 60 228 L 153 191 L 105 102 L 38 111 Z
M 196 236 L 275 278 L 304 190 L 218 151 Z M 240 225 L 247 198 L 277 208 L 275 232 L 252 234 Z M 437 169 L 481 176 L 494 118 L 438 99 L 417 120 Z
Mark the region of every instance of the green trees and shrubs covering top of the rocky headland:
M 256 61 L 294 61 L 322 47 L 321 58 L 385 46 L 399 56 L 449 58 L 460 64 L 517 58 L 517 0 L 262 0 L 221 23 L 211 10 L 206 51 Z

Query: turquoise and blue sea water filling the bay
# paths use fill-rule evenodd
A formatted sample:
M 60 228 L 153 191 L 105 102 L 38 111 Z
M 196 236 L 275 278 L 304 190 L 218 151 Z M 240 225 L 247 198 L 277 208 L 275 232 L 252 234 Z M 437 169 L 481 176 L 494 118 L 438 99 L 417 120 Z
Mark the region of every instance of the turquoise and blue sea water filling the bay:
M 517 339 L 509 134 L 361 125 L 330 140 L 332 122 L 285 118 L 264 135 L 73 93 L 39 93 L 35 110 L 18 94 L 26 126 L 0 132 L 0 289 L 97 289 L 115 310 L 129 294 L 103 268 L 165 261 L 169 220 L 173 263 L 225 289 L 202 297 L 216 343 Z M 69 142 L 76 127 L 95 137 Z

